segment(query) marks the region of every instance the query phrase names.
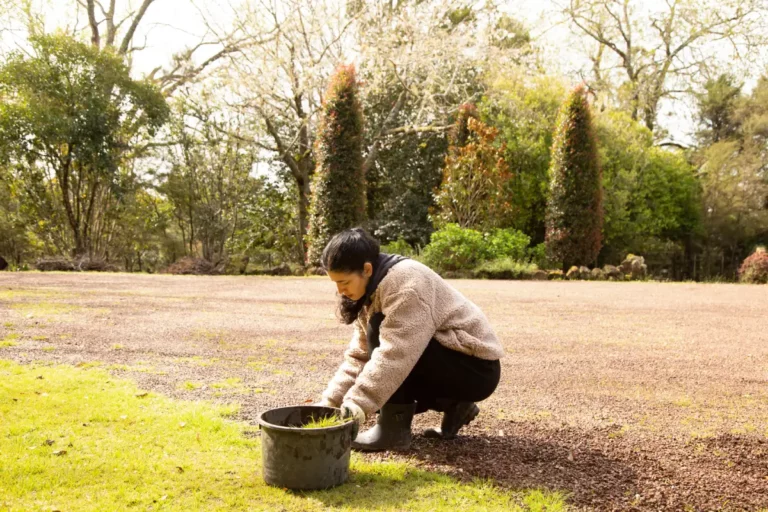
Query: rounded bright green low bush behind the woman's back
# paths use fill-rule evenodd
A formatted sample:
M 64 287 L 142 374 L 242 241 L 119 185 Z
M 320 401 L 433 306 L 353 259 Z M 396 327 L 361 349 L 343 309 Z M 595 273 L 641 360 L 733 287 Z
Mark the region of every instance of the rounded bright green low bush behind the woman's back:
M 437 272 L 469 270 L 491 259 L 483 234 L 458 224 L 446 224 L 432 233 L 422 257 Z

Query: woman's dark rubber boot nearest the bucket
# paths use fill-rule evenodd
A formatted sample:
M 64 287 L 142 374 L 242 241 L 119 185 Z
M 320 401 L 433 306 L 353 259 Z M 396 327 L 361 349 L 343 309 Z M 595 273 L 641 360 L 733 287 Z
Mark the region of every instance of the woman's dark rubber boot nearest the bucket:
M 411 422 L 416 403 L 384 404 L 373 428 L 359 434 L 352 448 L 361 452 L 408 450 L 411 447 Z

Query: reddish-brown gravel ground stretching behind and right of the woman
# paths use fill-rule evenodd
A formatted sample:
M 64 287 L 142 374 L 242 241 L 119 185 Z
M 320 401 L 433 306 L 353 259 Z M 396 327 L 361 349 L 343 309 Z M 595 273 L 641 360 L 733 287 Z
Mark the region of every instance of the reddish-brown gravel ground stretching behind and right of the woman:
M 453 442 L 408 458 L 584 510 L 768 510 L 768 287 L 453 281 L 508 353 Z M 0 274 L 0 358 L 99 365 L 184 399 L 319 397 L 350 328 L 327 278 Z M 2 342 L 5 340 L 5 343 Z M 10 342 L 10 343 L 8 343 Z M 10 346 L 3 346 L 10 345 Z

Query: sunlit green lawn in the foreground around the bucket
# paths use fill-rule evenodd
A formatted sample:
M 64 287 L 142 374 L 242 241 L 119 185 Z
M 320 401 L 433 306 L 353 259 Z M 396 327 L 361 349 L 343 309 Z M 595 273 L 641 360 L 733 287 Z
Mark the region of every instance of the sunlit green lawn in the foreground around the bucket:
M 146 393 L 100 369 L 0 361 L 0 510 L 564 510 L 559 493 L 460 483 L 353 455 L 350 482 L 264 484 L 236 407 Z

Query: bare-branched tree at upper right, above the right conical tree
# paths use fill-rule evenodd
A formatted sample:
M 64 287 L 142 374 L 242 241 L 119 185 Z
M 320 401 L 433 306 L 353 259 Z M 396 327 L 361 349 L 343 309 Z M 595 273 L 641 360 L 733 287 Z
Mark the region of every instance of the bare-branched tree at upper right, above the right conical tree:
M 693 91 L 712 76 L 715 56 L 750 63 L 766 43 L 761 0 L 668 0 L 651 9 L 639 0 L 569 0 L 564 14 L 595 43 L 594 87 L 619 91 L 632 119 L 652 132 L 664 98 Z M 726 57 L 727 59 L 727 57 Z

